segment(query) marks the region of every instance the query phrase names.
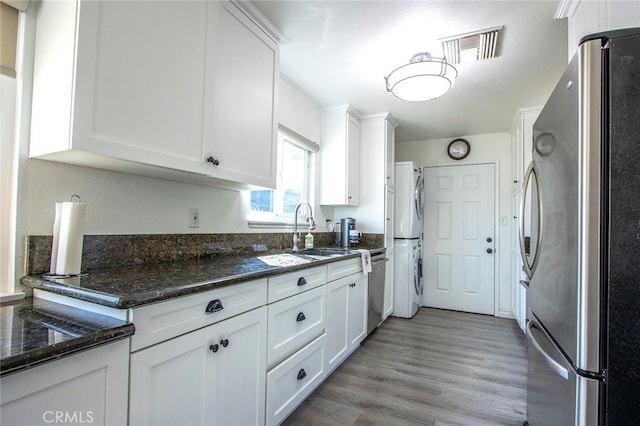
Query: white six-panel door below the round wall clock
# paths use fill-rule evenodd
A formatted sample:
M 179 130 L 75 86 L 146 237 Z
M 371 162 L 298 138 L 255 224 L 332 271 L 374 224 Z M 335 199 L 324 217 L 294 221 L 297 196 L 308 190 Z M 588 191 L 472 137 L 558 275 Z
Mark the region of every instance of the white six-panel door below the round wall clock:
M 422 305 L 494 314 L 493 164 L 427 167 Z

